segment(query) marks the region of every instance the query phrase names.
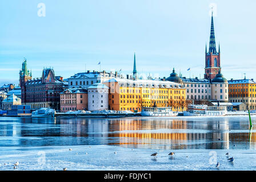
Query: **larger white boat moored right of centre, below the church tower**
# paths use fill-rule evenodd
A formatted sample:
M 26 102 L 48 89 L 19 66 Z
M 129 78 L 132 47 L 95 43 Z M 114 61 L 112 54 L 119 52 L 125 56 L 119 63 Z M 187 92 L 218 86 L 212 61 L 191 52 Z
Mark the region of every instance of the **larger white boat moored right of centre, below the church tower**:
M 206 115 L 226 115 L 225 106 L 207 106 L 207 105 L 189 105 L 187 111 L 183 112 L 184 116 L 206 116 Z

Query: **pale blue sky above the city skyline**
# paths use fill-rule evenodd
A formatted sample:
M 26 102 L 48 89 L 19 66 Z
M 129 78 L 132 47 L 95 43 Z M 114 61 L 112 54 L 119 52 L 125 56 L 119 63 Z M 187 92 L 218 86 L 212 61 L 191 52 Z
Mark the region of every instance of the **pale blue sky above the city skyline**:
M 45 3 L 46 16 L 37 15 Z M 210 3 L 224 77 L 255 77 L 256 1 L 13 0 L 0 2 L 0 84 L 18 84 L 23 57 L 33 77 L 43 67 L 68 78 L 86 70 L 203 77 Z

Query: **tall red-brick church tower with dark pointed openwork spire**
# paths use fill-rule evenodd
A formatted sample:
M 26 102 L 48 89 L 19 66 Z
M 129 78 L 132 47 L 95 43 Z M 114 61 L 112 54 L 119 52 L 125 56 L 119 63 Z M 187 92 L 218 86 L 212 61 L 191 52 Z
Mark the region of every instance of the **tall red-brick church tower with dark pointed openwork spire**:
M 208 80 L 213 79 L 218 75 L 218 72 L 221 72 L 221 49 L 219 47 L 218 52 L 216 51 L 212 11 L 209 52 L 207 52 L 207 46 L 205 47 L 205 78 Z

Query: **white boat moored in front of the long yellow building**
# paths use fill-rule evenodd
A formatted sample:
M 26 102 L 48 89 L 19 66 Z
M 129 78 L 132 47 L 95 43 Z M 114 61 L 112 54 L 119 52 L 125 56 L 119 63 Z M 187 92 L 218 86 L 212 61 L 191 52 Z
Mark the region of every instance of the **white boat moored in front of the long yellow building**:
M 141 111 L 142 117 L 170 117 L 177 115 L 178 112 L 174 112 L 171 107 L 143 107 Z

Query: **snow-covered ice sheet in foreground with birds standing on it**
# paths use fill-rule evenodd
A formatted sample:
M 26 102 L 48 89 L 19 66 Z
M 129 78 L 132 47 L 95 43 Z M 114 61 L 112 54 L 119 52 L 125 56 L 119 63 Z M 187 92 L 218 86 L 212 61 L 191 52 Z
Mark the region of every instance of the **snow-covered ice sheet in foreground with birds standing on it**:
M 72 148 L 72 150 L 69 150 Z M 255 150 L 150 150 L 118 146 L 1 148 L 0 170 L 255 170 Z M 227 162 L 226 152 L 234 156 Z M 87 154 L 86 154 L 87 152 Z M 116 152 L 116 154 L 115 154 Z M 158 152 L 155 158 L 151 156 Z M 213 153 L 211 153 L 213 152 Z M 214 158 L 214 152 L 217 157 Z M 43 156 L 45 155 L 45 158 Z M 44 160 L 45 159 L 45 160 Z M 214 161 L 214 159 L 217 159 Z M 220 163 L 215 168 L 215 163 Z M 14 169 L 14 163 L 19 162 Z

